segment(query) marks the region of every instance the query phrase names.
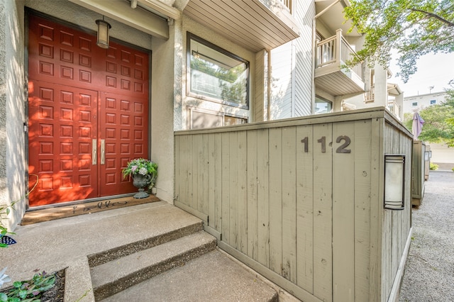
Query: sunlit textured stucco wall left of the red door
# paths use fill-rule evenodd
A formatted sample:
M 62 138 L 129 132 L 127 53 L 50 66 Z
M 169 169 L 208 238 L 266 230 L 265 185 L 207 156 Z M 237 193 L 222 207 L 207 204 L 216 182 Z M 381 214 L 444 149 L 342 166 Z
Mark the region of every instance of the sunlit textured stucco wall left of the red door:
M 25 121 L 23 11 L 21 4 L 0 3 L 0 204 L 18 201 L 2 223 L 14 230 L 25 211 Z

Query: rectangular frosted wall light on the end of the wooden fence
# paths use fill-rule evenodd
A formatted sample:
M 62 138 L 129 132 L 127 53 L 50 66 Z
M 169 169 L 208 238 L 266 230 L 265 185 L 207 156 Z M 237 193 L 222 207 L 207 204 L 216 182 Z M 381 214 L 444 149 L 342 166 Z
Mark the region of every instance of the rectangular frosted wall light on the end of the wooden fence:
M 405 155 L 384 155 L 384 208 L 404 209 Z

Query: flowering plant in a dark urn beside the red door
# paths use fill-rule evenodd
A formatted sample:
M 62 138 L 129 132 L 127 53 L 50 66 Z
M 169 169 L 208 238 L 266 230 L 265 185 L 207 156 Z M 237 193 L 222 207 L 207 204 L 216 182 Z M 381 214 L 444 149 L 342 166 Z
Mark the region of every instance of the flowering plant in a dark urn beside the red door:
M 123 179 L 131 177 L 133 179 L 133 185 L 138 188 L 138 194 L 134 195 L 134 198 L 146 198 L 148 193 L 145 192 L 144 188 L 153 188 L 156 183 L 157 177 L 157 164 L 151 160 L 145 160 L 144 158 L 135 158 L 130 160 L 126 168 L 122 171 Z

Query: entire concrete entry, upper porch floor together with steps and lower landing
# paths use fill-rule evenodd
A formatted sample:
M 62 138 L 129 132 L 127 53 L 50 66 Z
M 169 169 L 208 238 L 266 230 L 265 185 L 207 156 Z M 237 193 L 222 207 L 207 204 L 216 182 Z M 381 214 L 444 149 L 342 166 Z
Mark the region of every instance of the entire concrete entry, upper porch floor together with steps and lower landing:
M 16 280 L 65 269 L 65 302 L 277 301 L 202 226 L 164 201 L 19 225 L 1 264 Z

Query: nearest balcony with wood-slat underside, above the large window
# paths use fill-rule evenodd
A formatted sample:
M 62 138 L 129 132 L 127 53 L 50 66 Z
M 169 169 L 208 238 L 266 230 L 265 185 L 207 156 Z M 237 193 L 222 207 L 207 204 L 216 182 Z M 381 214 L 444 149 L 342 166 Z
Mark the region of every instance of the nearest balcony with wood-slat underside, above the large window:
M 299 37 L 291 0 L 190 0 L 183 13 L 253 52 Z

